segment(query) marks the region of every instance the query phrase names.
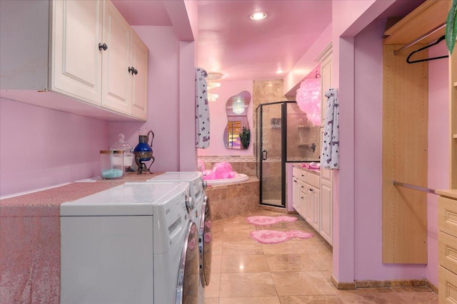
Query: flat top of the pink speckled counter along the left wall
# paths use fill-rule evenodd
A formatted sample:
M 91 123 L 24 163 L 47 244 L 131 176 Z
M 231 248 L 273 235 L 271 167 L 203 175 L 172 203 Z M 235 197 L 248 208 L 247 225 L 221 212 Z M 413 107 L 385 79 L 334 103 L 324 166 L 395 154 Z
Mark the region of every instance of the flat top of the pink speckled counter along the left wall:
M 0 199 L 0 217 L 59 216 L 58 207 L 65 201 L 81 199 L 81 197 L 95 194 L 126 182 L 146 182 L 147 179 L 151 179 L 162 173 L 136 174 L 136 172 L 129 172 L 124 174 L 122 179 L 73 182 L 60 187 Z

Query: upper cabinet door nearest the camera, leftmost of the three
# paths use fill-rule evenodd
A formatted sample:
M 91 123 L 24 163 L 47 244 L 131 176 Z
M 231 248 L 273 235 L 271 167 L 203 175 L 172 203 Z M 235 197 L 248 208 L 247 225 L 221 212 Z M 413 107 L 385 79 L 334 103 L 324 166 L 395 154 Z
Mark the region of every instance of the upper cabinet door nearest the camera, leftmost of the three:
M 51 90 L 100 105 L 101 1 L 52 1 L 52 7 Z

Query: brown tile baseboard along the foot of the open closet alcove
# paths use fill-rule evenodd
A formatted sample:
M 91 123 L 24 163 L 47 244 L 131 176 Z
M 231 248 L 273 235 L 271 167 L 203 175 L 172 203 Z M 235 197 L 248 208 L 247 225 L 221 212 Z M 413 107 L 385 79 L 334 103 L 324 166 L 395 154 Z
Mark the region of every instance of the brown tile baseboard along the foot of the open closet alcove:
M 390 287 L 405 287 L 405 286 L 426 286 L 428 289 L 438 294 L 438 287 L 424 280 L 356 280 L 353 282 L 338 282 L 336 278 L 331 276 L 331 282 L 336 288 L 341 290 L 357 289 L 357 288 L 390 288 Z

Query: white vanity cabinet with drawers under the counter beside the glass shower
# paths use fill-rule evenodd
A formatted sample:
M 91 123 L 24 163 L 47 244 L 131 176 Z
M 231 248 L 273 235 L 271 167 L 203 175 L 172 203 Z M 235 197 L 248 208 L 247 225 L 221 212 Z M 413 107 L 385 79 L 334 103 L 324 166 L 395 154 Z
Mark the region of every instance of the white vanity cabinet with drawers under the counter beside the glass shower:
M 292 168 L 292 205 L 298 214 L 332 244 L 333 203 L 331 197 L 331 176 L 329 170 L 321 172 Z

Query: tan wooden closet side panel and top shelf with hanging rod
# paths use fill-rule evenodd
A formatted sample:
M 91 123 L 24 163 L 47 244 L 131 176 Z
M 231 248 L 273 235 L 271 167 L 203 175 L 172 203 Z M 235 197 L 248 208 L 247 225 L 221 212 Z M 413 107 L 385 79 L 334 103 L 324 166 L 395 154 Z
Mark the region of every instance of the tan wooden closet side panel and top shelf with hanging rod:
M 393 180 L 419 187 L 428 184 L 428 62 L 408 64 L 406 58 L 444 35 L 450 7 L 448 0 L 427 0 L 384 33 L 383 263 L 428 261 L 427 195 L 393 186 Z M 422 53 L 427 56 L 427 51 Z M 452 62 L 450 86 L 457 83 L 456 59 Z M 456 87 L 451 95 L 450 135 L 457 135 Z M 451 149 L 451 180 L 456 187 L 456 139 L 451 138 Z

